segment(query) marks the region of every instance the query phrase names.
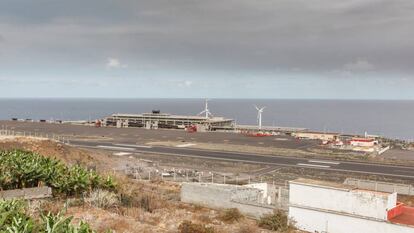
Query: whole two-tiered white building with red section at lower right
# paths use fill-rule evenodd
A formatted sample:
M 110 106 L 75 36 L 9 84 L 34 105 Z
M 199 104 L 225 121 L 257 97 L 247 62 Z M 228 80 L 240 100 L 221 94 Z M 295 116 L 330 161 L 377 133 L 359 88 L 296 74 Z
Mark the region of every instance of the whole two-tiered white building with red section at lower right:
M 397 203 L 396 193 L 307 179 L 290 182 L 289 217 L 309 232 L 414 232 L 414 208 Z

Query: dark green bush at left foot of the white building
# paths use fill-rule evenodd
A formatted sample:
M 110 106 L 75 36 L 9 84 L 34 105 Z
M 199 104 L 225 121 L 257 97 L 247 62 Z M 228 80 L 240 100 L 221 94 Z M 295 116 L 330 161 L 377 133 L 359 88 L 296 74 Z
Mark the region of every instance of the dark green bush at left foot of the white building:
M 282 210 L 275 210 L 273 214 L 267 214 L 260 218 L 258 225 L 272 231 L 289 231 L 293 227 L 289 225 L 288 217 Z

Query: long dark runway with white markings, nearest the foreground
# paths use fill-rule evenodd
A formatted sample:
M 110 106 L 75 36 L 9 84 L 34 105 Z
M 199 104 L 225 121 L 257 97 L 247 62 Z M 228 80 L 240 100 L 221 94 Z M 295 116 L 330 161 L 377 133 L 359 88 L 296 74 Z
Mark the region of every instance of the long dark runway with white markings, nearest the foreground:
M 320 160 L 306 158 L 292 158 L 274 155 L 245 154 L 238 152 L 219 152 L 190 147 L 162 147 L 136 144 L 119 144 L 110 142 L 85 142 L 72 141 L 72 145 L 78 147 L 95 148 L 111 151 L 123 151 L 132 153 L 155 153 L 160 155 L 175 155 L 194 158 L 206 158 L 226 161 L 240 161 L 248 163 L 260 163 L 276 166 L 301 167 L 339 172 L 356 172 L 363 174 L 383 175 L 414 180 L 414 167 L 381 165 L 372 163 L 344 162 L 335 160 Z

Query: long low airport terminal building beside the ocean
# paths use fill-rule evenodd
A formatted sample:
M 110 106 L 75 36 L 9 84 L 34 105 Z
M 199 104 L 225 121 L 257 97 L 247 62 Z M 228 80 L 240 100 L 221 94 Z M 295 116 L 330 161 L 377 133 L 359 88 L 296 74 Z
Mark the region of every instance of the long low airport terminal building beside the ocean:
M 140 127 L 147 129 L 185 129 L 189 126 L 202 127 L 205 130 L 234 128 L 234 120 L 224 117 L 182 116 L 161 113 L 158 110 L 143 114 L 112 114 L 103 119 L 103 126 L 118 128 Z

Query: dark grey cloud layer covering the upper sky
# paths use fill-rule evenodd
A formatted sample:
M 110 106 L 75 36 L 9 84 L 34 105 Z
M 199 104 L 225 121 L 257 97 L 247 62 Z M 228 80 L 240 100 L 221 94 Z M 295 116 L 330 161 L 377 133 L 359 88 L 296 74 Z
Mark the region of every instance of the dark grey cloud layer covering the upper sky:
M 412 74 L 413 10 L 410 0 L 4 0 L 0 29 L 16 61 Z

